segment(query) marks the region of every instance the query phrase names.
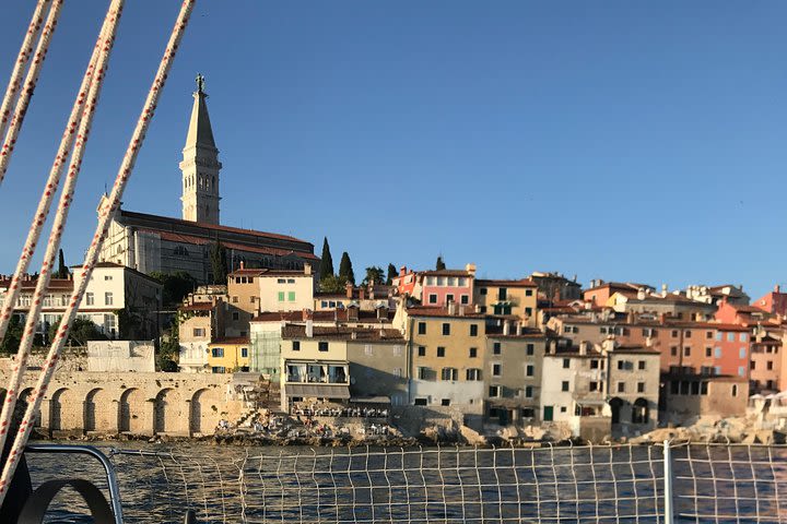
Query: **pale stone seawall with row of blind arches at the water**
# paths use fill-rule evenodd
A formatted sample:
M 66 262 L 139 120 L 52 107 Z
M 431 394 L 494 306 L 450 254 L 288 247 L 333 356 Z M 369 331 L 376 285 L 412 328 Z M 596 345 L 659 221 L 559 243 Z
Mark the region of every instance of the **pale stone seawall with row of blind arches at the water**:
M 37 376 L 35 371 L 25 376 L 20 398 L 30 396 Z M 8 367 L 2 366 L 0 383 L 8 377 Z M 212 434 L 219 420 L 234 421 L 242 410 L 231 374 L 58 370 L 36 426 L 50 437 L 197 437 Z

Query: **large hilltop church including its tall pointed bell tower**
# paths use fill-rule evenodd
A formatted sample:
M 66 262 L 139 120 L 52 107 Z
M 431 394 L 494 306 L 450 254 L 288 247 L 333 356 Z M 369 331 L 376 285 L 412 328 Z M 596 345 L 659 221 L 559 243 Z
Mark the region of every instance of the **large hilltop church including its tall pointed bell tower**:
M 316 267 L 314 245 L 286 235 L 222 226 L 219 150 L 208 116 L 204 79 L 197 76 L 193 107 L 183 150 L 181 218 L 120 209 L 109 227 L 99 260 L 142 273 L 185 271 L 212 283 L 211 251 L 224 248 L 230 271 L 240 266 L 301 270 Z

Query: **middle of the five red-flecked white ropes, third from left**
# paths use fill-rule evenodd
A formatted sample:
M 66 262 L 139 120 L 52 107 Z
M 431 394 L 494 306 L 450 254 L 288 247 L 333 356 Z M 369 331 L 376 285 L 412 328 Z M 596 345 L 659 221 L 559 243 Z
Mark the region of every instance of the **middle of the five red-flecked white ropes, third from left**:
M 77 94 L 74 105 L 71 108 L 71 115 L 66 123 L 66 130 L 60 139 L 60 146 L 58 147 L 55 162 L 52 163 L 52 167 L 49 171 L 49 178 L 44 186 L 43 194 L 38 201 L 38 210 L 36 211 L 31 228 L 27 231 L 27 239 L 22 248 L 22 254 L 16 263 L 16 270 L 11 277 L 11 283 L 9 284 L 8 289 L 5 290 L 5 301 L 3 302 L 2 309 L 0 309 L 0 341 L 3 336 L 5 336 L 5 331 L 8 330 L 9 322 L 11 321 L 11 317 L 13 315 L 13 310 L 16 305 L 16 299 L 19 298 L 19 294 L 21 291 L 22 279 L 30 266 L 31 259 L 35 252 L 42 230 L 44 229 L 44 223 L 49 215 L 55 193 L 57 192 L 57 188 L 60 186 L 60 177 L 62 176 L 63 168 L 67 165 L 74 140 L 77 139 L 77 128 L 82 119 L 83 106 L 93 79 L 95 62 L 104 34 L 106 33 L 106 26 L 107 19 L 105 17 L 98 39 L 93 48 L 93 55 L 91 56 L 87 69 L 82 78 L 82 84 L 80 85 Z

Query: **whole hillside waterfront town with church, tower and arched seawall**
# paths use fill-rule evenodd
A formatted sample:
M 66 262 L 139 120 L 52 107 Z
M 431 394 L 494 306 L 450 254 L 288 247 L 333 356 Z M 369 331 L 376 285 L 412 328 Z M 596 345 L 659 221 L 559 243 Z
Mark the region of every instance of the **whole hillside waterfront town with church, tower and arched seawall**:
M 447 267 L 442 257 L 428 269 L 367 267 L 356 283 L 346 252 L 334 271 L 328 239 L 317 257 L 310 242 L 221 224 L 203 86 L 179 165 L 183 216 L 116 213 L 58 371 L 71 385 L 52 388 L 40 414 L 50 434 L 600 441 L 736 417 L 752 431 L 784 427 L 778 286 L 750 297 L 736 284 L 482 278 L 483 267 Z M 78 275 L 61 261 L 40 345 Z M 5 371 L 36 279 L 24 279 L 14 308 Z M 9 285 L 0 276 L 0 301 Z M 109 381 L 117 398 L 102 402 Z

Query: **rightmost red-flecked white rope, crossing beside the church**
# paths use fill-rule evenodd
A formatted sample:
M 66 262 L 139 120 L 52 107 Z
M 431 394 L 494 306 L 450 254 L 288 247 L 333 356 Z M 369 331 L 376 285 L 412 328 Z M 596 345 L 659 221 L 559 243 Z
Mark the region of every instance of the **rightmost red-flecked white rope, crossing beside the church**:
M 9 458 L 3 467 L 2 476 L 0 476 L 0 503 L 2 503 L 2 500 L 5 498 L 10 479 L 13 477 L 20 456 L 22 455 L 22 451 L 27 443 L 30 432 L 33 428 L 35 414 L 38 409 L 40 409 L 42 400 L 47 392 L 47 388 L 55 372 L 55 367 L 57 366 L 58 358 L 60 357 L 62 346 L 66 343 L 71 324 L 77 317 L 79 305 L 82 301 L 85 288 L 90 282 L 91 274 L 93 273 L 93 269 L 98 260 L 98 253 L 102 245 L 104 243 L 104 239 L 107 236 L 111 217 L 120 206 L 120 199 L 122 198 L 124 190 L 126 189 L 126 184 L 131 176 L 134 163 L 137 162 L 137 155 L 139 154 L 139 150 L 144 141 L 150 121 L 155 112 L 161 92 L 166 83 L 169 69 L 172 68 L 173 60 L 177 53 L 177 48 L 180 44 L 186 26 L 188 25 L 188 20 L 191 15 L 195 2 L 196 0 L 185 0 L 183 2 L 177 21 L 175 22 L 175 27 L 173 28 L 166 50 L 164 51 L 164 56 L 162 57 L 162 61 L 158 66 L 158 71 L 153 80 L 153 85 L 148 93 L 148 98 L 145 99 L 142 112 L 137 122 L 137 128 L 134 129 L 129 146 L 126 150 L 126 154 L 120 165 L 120 169 L 118 170 L 117 178 L 115 179 L 115 184 L 113 186 L 109 199 L 105 202 L 105 205 L 98 210 L 98 224 L 93 236 L 93 241 L 87 249 L 84 264 L 82 265 L 79 285 L 74 287 L 71 295 L 71 301 L 69 302 L 68 309 L 60 321 L 57 335 L 49 348 L 49 354 L 47 355 L 47 359 L 44 364 L 42 373 L 38 377 L 38 381 L 31 393 L 27 410 L 20 424 L 13 448 L 11 449 Z

